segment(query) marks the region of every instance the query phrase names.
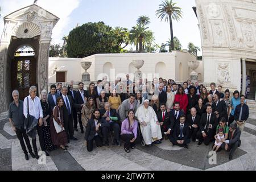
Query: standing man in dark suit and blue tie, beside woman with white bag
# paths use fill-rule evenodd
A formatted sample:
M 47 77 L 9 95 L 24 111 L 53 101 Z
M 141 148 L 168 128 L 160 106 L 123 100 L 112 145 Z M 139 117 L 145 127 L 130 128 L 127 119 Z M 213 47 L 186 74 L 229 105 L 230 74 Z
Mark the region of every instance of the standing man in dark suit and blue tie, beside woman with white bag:
M 73 127 L 73 107 L 76 105 L 74 104 L 71 96 L 68 96 L 68 88 L 67 86 L 63 86 L 62 88 L 62 97 L 64 101 L 63 105 L 63 120 L 64 120 L 64 129 L 67 133 L 68 139 L 77 140 L 74 137 L 74 127 Z

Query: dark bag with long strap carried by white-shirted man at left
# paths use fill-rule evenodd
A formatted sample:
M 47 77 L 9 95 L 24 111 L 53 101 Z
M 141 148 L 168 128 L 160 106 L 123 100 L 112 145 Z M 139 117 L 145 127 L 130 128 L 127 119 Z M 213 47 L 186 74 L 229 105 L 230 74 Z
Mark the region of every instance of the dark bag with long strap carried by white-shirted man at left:
M 36 126 L 38 125 L 38 119 L 30 115 L 30 110 L 28 106 L 28 97 L 27 97 L 27 118 L 24 121 L 24 129 L 28 137 L 35 139 L 36 138 Z

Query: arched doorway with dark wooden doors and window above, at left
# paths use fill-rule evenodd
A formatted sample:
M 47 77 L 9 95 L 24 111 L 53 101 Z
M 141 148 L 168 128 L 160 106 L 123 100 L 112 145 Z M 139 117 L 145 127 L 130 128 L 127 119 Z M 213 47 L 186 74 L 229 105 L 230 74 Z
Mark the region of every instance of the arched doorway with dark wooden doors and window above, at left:
M 35 51 L 30 46 L 22 46 L 11 60 L 11 88 L 19 91 L 19 99 L 24 100 L 32 85 L 36 85 Z

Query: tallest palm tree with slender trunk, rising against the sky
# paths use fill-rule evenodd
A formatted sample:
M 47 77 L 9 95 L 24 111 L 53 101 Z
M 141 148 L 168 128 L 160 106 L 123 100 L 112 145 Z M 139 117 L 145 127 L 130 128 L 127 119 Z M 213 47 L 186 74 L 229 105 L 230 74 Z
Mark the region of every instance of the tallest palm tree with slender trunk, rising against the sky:
M 170 29 L 171 29 L 171 47 L 174 50 L 174 32 L 172 29 L 172 19 L 179 21 L 182 18 L 182 11 L 180 7 L 176 6 L 175 2 L 172 0 L 164 0 L 162 4 L 159 5 L 159 9 L 156 10 L 156 16 L 164 21 L 170 21 Z

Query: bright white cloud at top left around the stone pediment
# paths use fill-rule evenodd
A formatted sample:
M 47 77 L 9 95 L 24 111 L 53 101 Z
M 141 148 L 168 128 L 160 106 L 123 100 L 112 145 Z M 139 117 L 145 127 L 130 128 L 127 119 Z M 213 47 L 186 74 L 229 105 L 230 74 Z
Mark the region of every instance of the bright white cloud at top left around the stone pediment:
M 0 34 L 3 31 L 3 16 L 6 16 L 13 11 L 19 10 L 22 7 L 31 5 L 34 1 L 32 0 L 0 0 L 1 6 L 1 21 L 0 21 Z M 52 42 L 61 43 L 61 38 L 63 37 L 63 30 L 65 27 L 68 27 L 70 22 L 69 16 L 72 11 L 75 10 L 81 0 L 39 0 L 37 5 L 46 9 L 50 13 L 58 16 L 60 18 L 59 22 L 56 24 L 52 32 Z

